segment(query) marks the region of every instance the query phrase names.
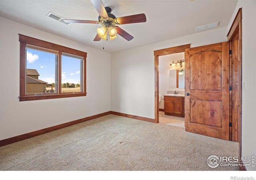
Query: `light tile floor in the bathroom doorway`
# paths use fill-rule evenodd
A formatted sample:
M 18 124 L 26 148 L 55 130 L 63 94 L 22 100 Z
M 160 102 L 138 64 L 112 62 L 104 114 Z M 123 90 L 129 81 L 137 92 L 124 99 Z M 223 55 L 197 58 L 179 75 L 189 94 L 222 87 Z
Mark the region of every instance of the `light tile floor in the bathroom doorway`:
M 163 111 L 159 111 L 159 123 L 185 128 L 184 118 L 168 116 Z

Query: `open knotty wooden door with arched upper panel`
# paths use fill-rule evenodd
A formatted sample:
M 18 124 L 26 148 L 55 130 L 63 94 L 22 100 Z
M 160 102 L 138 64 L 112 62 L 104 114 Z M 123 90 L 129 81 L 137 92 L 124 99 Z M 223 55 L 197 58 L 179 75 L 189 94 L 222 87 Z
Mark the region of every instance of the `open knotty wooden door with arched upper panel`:
M 228 42 L 185 50 L 185 130 L 229 140 Z

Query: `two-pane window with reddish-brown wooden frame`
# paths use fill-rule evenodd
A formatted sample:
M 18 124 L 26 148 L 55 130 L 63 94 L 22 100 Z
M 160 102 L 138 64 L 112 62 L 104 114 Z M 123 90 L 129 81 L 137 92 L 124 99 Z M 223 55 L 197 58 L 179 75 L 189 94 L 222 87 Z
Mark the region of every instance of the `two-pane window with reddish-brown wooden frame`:
M 86 52 L 20 36 L 20 101 L 86 96 Z

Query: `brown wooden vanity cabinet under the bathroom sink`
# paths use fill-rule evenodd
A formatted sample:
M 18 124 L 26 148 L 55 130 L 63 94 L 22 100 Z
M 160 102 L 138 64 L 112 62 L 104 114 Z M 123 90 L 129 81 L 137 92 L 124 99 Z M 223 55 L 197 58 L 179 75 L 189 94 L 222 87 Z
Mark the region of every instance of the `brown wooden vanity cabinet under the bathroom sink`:
M 184 117 L 184 97 L 164 96 L 164 114 Z

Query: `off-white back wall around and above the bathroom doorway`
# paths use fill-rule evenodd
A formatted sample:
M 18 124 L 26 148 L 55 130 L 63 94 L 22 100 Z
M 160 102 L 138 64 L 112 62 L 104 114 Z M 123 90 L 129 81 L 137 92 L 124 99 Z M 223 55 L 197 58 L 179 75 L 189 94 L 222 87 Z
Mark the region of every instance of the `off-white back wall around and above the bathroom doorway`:
M 224 42 L 227 34 L 224 27 L 112 53 L 111 110 L 154 119 L 154 50 Z

